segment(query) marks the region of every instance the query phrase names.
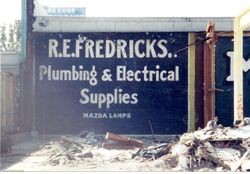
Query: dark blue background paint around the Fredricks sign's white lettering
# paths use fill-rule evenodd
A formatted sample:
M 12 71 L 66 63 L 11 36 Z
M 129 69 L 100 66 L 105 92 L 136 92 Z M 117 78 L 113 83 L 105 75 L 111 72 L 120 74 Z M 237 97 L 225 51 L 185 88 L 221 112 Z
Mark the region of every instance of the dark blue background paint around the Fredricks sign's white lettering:
M 84 51 L 79 58 L 74 52 L 75 46 L 67 47 L 67 53 L 63 52 L 63 39 L 71 39 L 75 42 L 79 37 L 92 41 L 122 39 L 128 43 L 129 40 L 167 40 L 168 54 L 165 58 L 138 58 L 136 55 L 130 58 L 86 58 Z M 56 51 L 48 51 L 49 40 L 55 39 L 59 43 Z M 65 40 L 64 40 L 65 41 Z M 66 40 L 67 41 L 67 40 Z M 99 43 L 100 43 L 99 42 Z M 52 45 L 55 43 L 51 43 Z M 184 50 L 177 55 L 175 51 L 188 44 L 187 33 L 171 32 L 139 32 L 139 33 L 37 33 L 35 38 L 35 59 L 36 59 L 36 126 L 39 133 L 78 133 L 84 129 L 93 130 L 95 133 L 105 133 L 113 131 L 117 133 L 150 134 L 149 120 L 152 123 L 155 134 L 178 134 L 187 131 L 188 122 L 188 51 Z M 122 45 L 120 45 L 122 46 Z M 100 47 L 96 48 L 99 50 Z M 103 48 L 106 48 L 105 45 Z M 142 45 L 140 52 L 145 50 Z M 155 46 L 158 53 L 162 50 Z M 64 49 L 65 50 L 65 49 Z M 58 51 L 58 52 L 57 52 Z M 67 52 L 66 51 L 66 52 Z M 53 53 L 52 53 L 53 52 Z M 56 54 L 57 52 L 58 54 Z M 99 52 L 99 51 L 98 51 Z M 102 51 L 101 51 L 102 52 Z M 74 53 L 74 54 L 73 54 Z M 125 49 L 129 54 L 129 49 Z M 131 55 L 134 54 L 130 52 Z M 51 54 L 49 56 L 49 54 Z M 121 53 L 122 54 L 122 53 Z M 55 57 L 58 55 L 58 57 Z M 54 57 L 53 57 L 54 56 Z M 60 58 L 60 56 L 62 56 Z M 96 56 L 96 55 L 95 55 Z M 101 57 L 99 55 L 99 57 Z M 179 66 L 179 77 L 175 81 L 103 81 L 98 76 L 98 84 L 91 86 L 88 81 L 56 81 L 41 80 L 39 72 L 41 65 L 51 65 L 56 69 L 67 69 L 75 65 L 82 65 L 85 70 L 90 70 L 95 66 L 97 74 L 102 74 L 103 70 L 110 70 L 111 75 L 117 75 L 117 66 L 124 66 L 127 69 L 137 71 L 147 66 L 154 70 L 159 65 L 159 70 L 171 70 Z M 40 69 L 40 70 L 39 70 Z M 47 69 L 48 70 L 48 69 Z M 40 74 L 39 74 L 40 73 Z M 101 76 L 101 75 L 100 75 Z M 40 78 L 40 79 L 39 79 Z M 79 102 L 83 99 L 82 89 L 89 89 L 90 93 L 112 93 L 114 89 L 122 89 L 123 93 L 137 93 L 138 103 L 135 104 L 115 104 L 101 105 Z M 122 93 L 122 92 L 120 92 Z M 86 98 L 85 98 L 86 99 Z M 83 114 L 101 113 L 103 118 L 94 119 Z M 125 114 L 124 118 L 112 118 L 117 113 Z M 104 114 L 107 117 L 104 117 Z M 110 117 L 111 114 L 111 117 Z M 84 117 L 83 117 L 84 116 Z M 111 119 L 112 118 L 112 119 Z

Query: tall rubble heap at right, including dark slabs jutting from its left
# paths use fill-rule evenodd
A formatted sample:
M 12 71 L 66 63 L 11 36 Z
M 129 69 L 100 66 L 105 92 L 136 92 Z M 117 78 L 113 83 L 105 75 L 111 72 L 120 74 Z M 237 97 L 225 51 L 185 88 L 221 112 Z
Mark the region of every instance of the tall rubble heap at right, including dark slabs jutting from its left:
M 250 125 L 242 127 L 218 126 L 185 133 L 174 144 L 141 149 L 132 158 L 165 161 L 166 168 L 199 171 L 204 168 L 223 171 L 250 170 Z

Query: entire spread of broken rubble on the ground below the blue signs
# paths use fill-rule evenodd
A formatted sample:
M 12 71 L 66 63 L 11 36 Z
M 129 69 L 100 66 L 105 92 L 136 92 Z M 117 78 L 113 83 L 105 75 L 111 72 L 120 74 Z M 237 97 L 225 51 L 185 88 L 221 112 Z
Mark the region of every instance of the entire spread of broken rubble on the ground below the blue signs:
M 46 163 L 53 166 L 84 162 L 94 165 L 103 160 L 112 164 L 134 161 L 145 166 L 164 165 L 166 170 L 175 171 L 250 170 L 250 125 L 204 128 L 165 143 L 140 140 L 111 132 L 97 138 L 93 132 L 84 132 L 78 137 L 61 137 L 43 150 L 51 154 Z

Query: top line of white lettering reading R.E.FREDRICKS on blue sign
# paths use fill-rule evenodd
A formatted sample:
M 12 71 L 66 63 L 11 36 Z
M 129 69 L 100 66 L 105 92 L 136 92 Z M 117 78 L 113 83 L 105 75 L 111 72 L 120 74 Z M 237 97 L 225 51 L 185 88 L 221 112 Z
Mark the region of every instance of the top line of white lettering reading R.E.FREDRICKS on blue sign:
M 166 47 L 167 40 L 92 40 L 78 36 L 78 39 L 62 39 L 60 44 L 56 39 L 49 39 L 49 57 L 79 58 L 81 52 L 84 58 L 170 58 L 172 53 Z M 60 46 L 60 49 L 59 49 Z M 71 49 L 71 47 L 74 48 Z M 58 52 L 62 50 L 61 52 Z M 73 50 L 73 52 L 70 52 Z M 175 56 L 177 57 L 177 56 Z

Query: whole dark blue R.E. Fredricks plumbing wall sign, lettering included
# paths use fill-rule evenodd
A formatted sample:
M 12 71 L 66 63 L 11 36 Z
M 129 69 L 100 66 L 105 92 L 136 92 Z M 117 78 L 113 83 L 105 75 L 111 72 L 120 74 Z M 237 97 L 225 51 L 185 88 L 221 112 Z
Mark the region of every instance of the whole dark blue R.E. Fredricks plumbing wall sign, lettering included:
M 37 33 L 40 133 L 187 130 L 187 33 Z

